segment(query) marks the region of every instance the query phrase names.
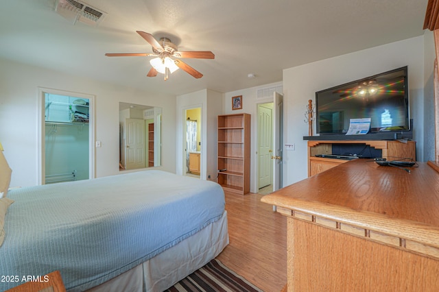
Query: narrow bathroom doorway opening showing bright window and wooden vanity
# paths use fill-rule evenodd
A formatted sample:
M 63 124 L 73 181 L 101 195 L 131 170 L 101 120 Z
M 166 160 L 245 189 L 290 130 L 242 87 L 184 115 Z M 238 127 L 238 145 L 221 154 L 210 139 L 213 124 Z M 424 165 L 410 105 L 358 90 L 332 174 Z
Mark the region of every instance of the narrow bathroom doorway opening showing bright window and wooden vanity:
M 184 175 L 200 178 L 201 173 L 201 108 L 185 110 Z

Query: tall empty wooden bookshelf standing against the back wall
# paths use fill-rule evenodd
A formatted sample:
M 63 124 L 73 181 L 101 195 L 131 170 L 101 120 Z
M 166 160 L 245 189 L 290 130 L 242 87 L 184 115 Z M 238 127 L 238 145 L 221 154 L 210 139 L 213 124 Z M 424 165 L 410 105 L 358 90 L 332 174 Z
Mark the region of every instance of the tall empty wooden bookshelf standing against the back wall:
M 218 116 L 217 167 L 225 191 L 250 192 L 250 114 Z

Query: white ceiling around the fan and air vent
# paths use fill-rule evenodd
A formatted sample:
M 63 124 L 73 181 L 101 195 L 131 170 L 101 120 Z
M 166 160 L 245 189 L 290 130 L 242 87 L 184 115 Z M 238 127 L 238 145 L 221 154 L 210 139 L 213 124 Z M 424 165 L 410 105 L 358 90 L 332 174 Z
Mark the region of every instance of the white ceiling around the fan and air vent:
M 55 0 L 0 0 L 0 58 L 152 92 L 225 93 L 282 80 L 283 69 L 423 34 L 428 0 L 85 0 L 107 13 L 97 26 L 72 25 Z M 215 60 L 185 59 L 182 70 L 147 77 L 150 53 L 137 30 L 167 36 L 180 51 L 213 51 Z M 257 77 L 249 79 L 248 74 Z

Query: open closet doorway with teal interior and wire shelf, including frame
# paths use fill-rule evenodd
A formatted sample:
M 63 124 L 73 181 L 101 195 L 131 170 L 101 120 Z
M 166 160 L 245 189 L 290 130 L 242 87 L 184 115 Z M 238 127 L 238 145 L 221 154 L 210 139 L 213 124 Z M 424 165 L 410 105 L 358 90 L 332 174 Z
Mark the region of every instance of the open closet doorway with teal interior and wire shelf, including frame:
M 93 96 L 41 88 L 39 101 L 40 184 L 93 178 Z

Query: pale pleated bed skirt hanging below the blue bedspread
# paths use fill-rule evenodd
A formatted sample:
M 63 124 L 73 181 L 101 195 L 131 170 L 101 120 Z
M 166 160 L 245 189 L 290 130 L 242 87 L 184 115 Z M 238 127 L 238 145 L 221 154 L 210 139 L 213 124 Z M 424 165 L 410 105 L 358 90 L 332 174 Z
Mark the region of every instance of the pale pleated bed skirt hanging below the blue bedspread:
M 200 232 L 88 292 L 162 292 L 215 258 L 228 245 L 227 211 Z M 72 290 L 73 291 L 73 290 Z

